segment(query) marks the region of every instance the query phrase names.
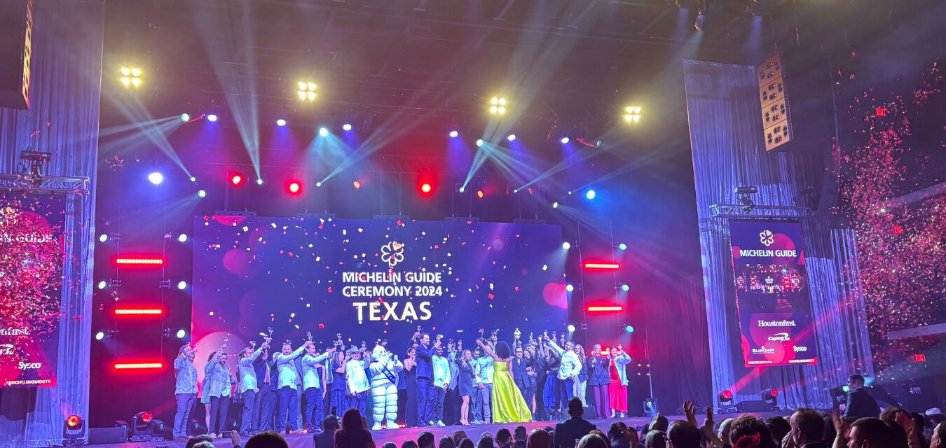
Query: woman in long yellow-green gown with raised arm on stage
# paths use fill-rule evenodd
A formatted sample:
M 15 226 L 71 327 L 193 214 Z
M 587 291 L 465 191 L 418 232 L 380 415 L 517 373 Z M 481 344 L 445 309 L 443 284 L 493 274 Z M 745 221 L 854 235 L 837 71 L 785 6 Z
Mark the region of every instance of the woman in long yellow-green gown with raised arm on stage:
M 532 422 L 532 411 L 509 371 L 509 362 L 513 356 L 509 344 L 500 340 L 496 344 L 496 352 L 482 339 L 477 339 L 477 344 L 493 358 L 493 422 Z

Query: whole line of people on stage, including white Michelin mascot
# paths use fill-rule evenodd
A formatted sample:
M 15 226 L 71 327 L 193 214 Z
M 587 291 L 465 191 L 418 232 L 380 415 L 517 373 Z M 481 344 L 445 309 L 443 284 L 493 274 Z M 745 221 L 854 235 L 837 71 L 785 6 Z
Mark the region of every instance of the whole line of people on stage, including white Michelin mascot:
M 200 388 L 197 350 L 185 344 L 174 360 L 174 437 L 186 438 L 199 395 L 210 434 L 227 430 L 232 402 L 242 406 L 243 435 L 303 427 L 319 432 L 326 411 L 341 415 L 348 408 L 359 409 L 372 429 L 560 420 L 572 397 L 590 401 L 598 418 L 627 412 L 625 367 L 631 358 L 620 346 L 603 352 L 596 344 L 586 354 L 564 332 L 557 342 L 547 333 L 523 341 L 517 329 L 512 346 L 498 333 L 464 350 L 463 341 L 444 344 L 443 336 L 418 327 L 401 359 L 389 352 L 387 340 L 369 351 L 365 342 L 346 348 L 341 335 L 321 352 L 311 336 L 295 349 L 287 341 L 277 352 L 271 329 L 258 347 L 251 342 L 236 355 L 226 353 L 224 338 L 208 356 Z M 232 357 L 235 364 L 228 362 Z

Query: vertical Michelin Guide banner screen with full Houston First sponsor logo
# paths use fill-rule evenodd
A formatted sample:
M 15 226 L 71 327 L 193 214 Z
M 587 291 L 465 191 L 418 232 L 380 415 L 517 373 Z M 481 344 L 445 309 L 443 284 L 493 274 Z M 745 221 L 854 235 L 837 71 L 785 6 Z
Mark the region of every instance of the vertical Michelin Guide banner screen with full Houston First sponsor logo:
M 797 222 L 730 220 L 745 367 L 817 364 Z

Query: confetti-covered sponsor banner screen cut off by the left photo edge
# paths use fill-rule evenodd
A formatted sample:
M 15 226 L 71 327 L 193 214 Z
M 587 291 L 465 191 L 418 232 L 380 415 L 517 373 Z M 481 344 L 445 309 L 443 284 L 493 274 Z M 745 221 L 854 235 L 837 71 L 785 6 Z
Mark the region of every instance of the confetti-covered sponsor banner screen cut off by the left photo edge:
M 0 193 L 0 388 L 56 386 L 65 198 Z

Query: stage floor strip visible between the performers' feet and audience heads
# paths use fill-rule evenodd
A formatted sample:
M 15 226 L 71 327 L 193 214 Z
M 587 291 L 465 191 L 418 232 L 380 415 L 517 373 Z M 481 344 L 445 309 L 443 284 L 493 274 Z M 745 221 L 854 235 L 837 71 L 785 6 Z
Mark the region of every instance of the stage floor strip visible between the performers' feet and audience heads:
M 789 415 L 790 413 L 791 411 L 788 411 L 788 410 L 762 412 L 762 413 L 749 412 L 749 414 L 757 415 L 762 418 L 772 417 L 776 415 L 784 416 L 784 415 Z M 723 414 L 721 416 L 717 416 L 717 421 L 721 421 L 729 417 L 734 417 L 736 415 L 741 415 L 741 414 Z M 686 417 L 682 415 L 667 416 L 667 418 L 671 422 L 674 422 L 675 420 L 686 420 Z M 697 416 L 697 418 L 700 421 L 700 423 L 703 422 L 703 417 Z M 650 417 L 627 417 L 625 419 L 590 420 L 590 422 L 594 423 L 598 427 L 598 429 L 602 431 L 606 431 L 608 425 L 610 425 L 611 422 L 616 422 L 618 420 L 624 422 L 628 426 L 643 426 L 644 424 L 647 424 L 653 419 Z M 387 441 L 393 441 L 394 443 L 397 444 L 397 446 L 401 446 L 401 442 L 403 442 L 404 440 L 406 439 L 416 440 L 417 437 L 420 436 L 420 433 L 424 431 L 433 432 L 434 438 L 439 440 L 443 436 L 452 435 L 453 432 L 458 429 L 464 430 L 466 432 L 466 436 L 472 439 L 474 443 L 476 443 L 476 441 L 480 439 L 480 436 L 482 435 L 482 433 L 486 431 L 489 431 L 495 436 L 496 431 L 498 431 L 500 428 L 509 428 L 510 430 L 512 430 L 513 427 L 516 426 L 517 424 L 521 424 L 525 426 L 526 431 L 532 431 L 534 428 L 544 428 L 546 426 L 555 427 L 555 423 L 556 422 L 552 422 L 552 421 L 526 422 L 526 423 L 490 423 L 490 424 L 476 424 L 476 425 L 467 425 L 467 426 L 459 426 L 459 425 L 458 426 L 443 426 L 443 427 L 435 427 L 435 428 L 401 428 L 401 429 L 394 429 L 394 430 L 382 429 L 378 431 L 372 431 L 371 433 L 375 438 L 375 444 L 377 445 L 378 448 L 380 448 L 380 446 L 384 444 L 384 442 L 387 442 Z M 245 443 L 247 438 L 242 438 L 242 439 L 243 439 L 243 442 Z M 311 448 L 312 447 L 312 436 L 309 434 L 293 434 L 293 435 L 286 436 L 286 439 L 287 441 L 289 441 L 290 448 Z M 186 443 L 186 440 L 166 440 L 166 441 L 147 441 L 147 442 L 127 442 L 127 443 L 115 443 L 115 444 L 104 444 L 104 445 L 88 445 L 88 446 L 115 447 L 115 448 L 119 448 L 119 447 L 120 448 L 160 448 L 160 447 L 183 448 L 185 443 Z M 229 448 L 231 446 L 230 438 L 216 439 L 214 440 L 214 444 L 217 446 L 217 448 Z

